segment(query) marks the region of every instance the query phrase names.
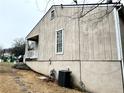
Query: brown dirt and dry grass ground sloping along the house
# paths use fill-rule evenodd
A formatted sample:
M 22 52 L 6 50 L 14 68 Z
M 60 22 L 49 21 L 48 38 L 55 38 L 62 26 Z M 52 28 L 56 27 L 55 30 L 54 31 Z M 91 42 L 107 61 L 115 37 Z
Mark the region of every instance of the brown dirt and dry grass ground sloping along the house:
M 39 79 L 41 75 L 27 70 L 11 68 L 10 63 L 0 63 L 0 93 L 82 93 Z

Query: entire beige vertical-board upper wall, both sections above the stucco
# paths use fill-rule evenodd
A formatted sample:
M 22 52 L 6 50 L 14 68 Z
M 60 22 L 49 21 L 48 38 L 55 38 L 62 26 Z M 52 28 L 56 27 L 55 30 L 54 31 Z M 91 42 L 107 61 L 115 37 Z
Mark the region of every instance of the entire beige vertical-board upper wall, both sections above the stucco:
M 84 8 L 83 14 L 91 7 Z M 53 6 L 40 22 L 39 60 L 117 60 L 113 7 L 98 7 L 84 17 L 82 7 Z M 51 20 L 51 11 L 55 18 Z M 83 15 L 82 14 L 82 15 Z M 80 28 L 80 31 L 79 31 Z M 55 33 L 63 29 L 64 52 L 55 53 Z

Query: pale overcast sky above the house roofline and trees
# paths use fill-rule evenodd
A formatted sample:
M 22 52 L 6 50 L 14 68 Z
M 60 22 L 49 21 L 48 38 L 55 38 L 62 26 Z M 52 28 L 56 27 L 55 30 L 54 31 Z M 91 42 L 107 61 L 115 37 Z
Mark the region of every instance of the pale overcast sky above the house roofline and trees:
M 84 0 L 77 1 L 82 3 Z M 98 1 L 85 0 L 85 3 Z M 73 0 L 0 0 L 0 47 L 10 48 L 13 40 L 25 38 L 54 4 L 74 4 L 74 2 Z

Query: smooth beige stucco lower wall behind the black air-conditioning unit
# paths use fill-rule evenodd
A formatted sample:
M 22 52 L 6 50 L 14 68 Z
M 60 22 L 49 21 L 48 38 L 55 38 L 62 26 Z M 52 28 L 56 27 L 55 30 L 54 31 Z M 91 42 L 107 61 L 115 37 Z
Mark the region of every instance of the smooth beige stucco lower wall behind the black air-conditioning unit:
M 49 75 L 55 69 L 72 71 L 73 83 L 80 86 L 80 66 L 78 61 L 27 62 L 40 73 Z M 85 88 L 93 93 L 123 93 L 120 62 L 81 62 L 81 77 Z

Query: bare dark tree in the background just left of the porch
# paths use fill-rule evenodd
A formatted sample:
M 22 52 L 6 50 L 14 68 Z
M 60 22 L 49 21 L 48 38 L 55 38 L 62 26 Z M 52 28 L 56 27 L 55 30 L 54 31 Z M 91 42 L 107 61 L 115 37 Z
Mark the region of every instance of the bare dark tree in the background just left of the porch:
M 16 57 L 24 55 L 25 53 L 25 40 L 23 38 L 17 38 L 13 41 L 12 54 Z

